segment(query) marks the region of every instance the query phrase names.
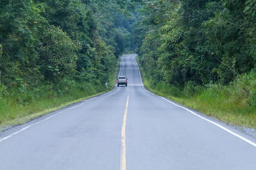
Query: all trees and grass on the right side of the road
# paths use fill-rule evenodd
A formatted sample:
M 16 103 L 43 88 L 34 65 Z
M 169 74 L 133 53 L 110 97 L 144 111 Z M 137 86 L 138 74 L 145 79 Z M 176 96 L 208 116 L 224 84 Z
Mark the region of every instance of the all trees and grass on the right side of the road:
M 131 37 L 146 87 L 256 128 L 255 14 L 253 0 L 144 1 Z

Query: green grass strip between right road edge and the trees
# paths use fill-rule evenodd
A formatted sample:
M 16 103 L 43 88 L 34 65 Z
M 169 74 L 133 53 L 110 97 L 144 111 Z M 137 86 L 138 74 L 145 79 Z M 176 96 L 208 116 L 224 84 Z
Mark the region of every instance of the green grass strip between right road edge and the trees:
M 155 84 L 147 79 L 143 68 L 141 70 L 144 85 L 151 92 L 227 124 L 256 128 L 255 73 L 240 75 L 234 82 L 226 86 L 209 84 L 202 87 L 188 83 L 183 88 L 177 88 L 165 82 Z

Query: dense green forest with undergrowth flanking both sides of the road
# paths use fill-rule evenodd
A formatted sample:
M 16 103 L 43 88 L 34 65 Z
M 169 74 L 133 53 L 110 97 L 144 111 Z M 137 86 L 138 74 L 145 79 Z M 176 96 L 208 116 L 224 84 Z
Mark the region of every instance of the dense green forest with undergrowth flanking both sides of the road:
M 108 90 L 125 50 L 150 90 L 256 121 L 255 0 L 1 0 L 0 16 L 0 123 Z

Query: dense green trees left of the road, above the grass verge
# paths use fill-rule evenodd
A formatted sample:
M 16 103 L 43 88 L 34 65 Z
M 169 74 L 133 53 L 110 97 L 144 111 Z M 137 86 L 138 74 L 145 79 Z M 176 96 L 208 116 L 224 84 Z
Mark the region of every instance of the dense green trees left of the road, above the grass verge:
M 136 6 L 136 0 L 1 0 L 0 92 L 105 85 Z

